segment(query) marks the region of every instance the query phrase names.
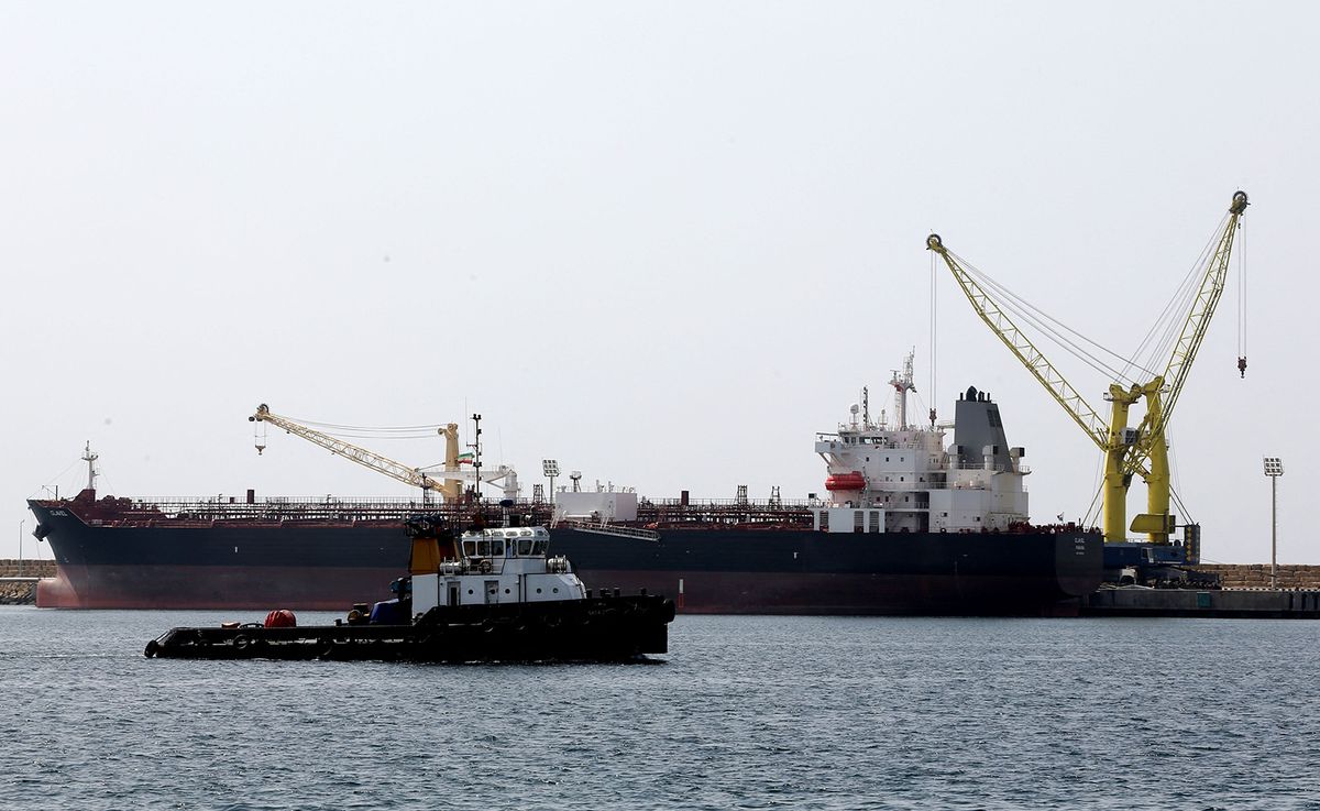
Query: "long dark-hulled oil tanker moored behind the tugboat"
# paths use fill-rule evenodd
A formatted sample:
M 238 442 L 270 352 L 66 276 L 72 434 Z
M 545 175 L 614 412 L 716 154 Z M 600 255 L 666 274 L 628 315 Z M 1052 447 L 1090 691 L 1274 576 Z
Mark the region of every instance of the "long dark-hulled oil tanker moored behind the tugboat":
M 999 407 L 969 388 L 949 425 L 911 425 L 912 359 L 895 372 L 892 421 L 867 398 L 816 436 L 825 498 L 651 499 L 573 487 L 499 506 L 454 499 L 144 501 L 88 487 L 32 499 L 58 573 L 46 608 L 339 610 L 384 600 L 407 569 L 405 519 L 545 524 L 589 588 L 672 597 L 686 613 L 1039 616 L 1076 612 L 1100 585 L 1098 532 L 1028 522 L 1023 448 Z M 453 427 L 451 427 L 453 428 Z M 498 598 L 498 596 L 495 597 Z

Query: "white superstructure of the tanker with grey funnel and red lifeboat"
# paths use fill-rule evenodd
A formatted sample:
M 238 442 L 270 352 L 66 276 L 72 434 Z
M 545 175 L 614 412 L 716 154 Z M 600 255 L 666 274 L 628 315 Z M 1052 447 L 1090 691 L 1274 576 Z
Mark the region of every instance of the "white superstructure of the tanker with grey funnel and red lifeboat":
M 895 423 L 873 423 L 869 409 L 851 407 L 837 433 L 816 437 L 825 460 L 829 503 L 813 510 L 816 528 L 828 532 L 981 532 L 1026 523 L 1026 450 L 1008 448 L 999 407 L 969 388 L 958 398 L 954 439 L 949 425 L 907 424 L 912 355 L 895 390 Z

